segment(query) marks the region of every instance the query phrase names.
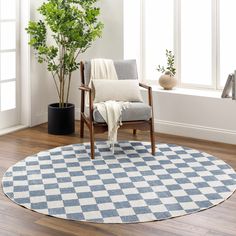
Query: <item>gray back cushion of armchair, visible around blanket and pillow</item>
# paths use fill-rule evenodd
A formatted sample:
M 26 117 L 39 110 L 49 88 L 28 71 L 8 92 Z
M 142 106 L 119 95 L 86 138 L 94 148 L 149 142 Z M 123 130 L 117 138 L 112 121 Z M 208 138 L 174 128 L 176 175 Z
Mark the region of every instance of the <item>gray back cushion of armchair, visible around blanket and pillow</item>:
M 114 66 L 118 79 L 138 79 L 136 60 L 114 61 Z M 91 62 L 84 62 L 84 79 L 85 84 L 89 84 L 91 75 Z

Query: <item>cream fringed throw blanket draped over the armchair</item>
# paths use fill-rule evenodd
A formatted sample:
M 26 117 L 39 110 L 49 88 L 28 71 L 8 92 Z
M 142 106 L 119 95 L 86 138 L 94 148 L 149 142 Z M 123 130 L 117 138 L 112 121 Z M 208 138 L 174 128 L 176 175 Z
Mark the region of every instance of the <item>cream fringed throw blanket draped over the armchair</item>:
M 115 66 L 112 60 L 108 59 L 93 59 L 91 60 L 91 77 L 89 87 L 92 87 L 94 79 L 112 79 L 117 80 Z M 117 131 L 120 127 L 122 111 L 128 107 L 128 102 L 105 101 L 102 103 L 95 103 L 96 107 L 106 121 L 108 126 L 108 140 L 112 145 L 114 152 L 114 143 L 117 141 Z

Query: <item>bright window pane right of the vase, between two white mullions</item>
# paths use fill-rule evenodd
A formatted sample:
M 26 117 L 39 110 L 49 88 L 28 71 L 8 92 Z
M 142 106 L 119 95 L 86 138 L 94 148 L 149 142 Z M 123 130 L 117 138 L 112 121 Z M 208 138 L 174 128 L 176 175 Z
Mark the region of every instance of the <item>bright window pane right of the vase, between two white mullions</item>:
M 181 1 L 182 83 L 212 83 L 211 19 L 211 0 Z

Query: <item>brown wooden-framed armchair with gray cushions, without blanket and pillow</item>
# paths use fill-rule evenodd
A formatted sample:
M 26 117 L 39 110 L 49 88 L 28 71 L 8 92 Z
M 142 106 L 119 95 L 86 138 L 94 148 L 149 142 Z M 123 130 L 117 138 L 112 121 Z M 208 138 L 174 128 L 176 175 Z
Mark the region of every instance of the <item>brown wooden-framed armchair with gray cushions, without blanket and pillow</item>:
M 135 60 L 114 61 L 118 79 L 138 79 L 137 66 Z M 93 107 L 92 89 L 88 87 L 91 73 L 91 62 L 80 63 L 81 73 L 81 119 L 80 119 L 80 137 L 84 137 L 84 124 L 89 129 L 91 158 L 94 159 L 94 135 L 108 130 L 107 124 L 98 110 Z M 133 129 L 133 134 L 137 130 L 150 131 L 150 140 L 152 154 L 155 154 L 155 137 L 153 125 L 153 103 L 152 88 L 139 83 L 140 87 L 148 90 L 148 104 L 142 102 L 132 102 L 128 109 L 122 113 L 122 126 L 120 129 Z M 86 111 L 85 93 L 89 96 L 89 107 Z

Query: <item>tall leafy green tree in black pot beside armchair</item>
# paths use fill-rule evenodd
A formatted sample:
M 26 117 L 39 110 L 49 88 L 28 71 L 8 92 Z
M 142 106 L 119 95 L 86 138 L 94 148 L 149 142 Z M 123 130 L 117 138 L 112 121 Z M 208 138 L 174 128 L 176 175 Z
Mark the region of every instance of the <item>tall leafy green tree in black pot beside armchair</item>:
M 38 9 L 43 20 L 30 21 L 29 45 L 39 63 L 45 62 L 55 84 L 58 102 L 48 106 L 48 132 L 74 132 L 74 104 L 69 103 L 72 73 L 78 56 L 101 36 L 97 0 L 47 0 Z

